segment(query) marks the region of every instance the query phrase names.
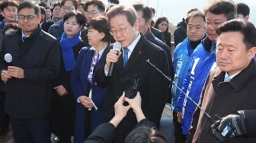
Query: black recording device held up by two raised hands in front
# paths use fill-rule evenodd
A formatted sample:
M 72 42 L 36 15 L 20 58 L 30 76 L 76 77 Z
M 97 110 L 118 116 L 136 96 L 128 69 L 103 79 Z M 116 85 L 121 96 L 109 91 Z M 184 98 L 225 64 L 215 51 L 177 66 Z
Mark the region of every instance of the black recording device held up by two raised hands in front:
M 126 78 L 124 83 L 126 85 L 126 89 L 124 91 L 125 97 L 133 99 L 136 96 L 139 85 L 142 84 L 142 79 L 136 74 L 131 78 Z

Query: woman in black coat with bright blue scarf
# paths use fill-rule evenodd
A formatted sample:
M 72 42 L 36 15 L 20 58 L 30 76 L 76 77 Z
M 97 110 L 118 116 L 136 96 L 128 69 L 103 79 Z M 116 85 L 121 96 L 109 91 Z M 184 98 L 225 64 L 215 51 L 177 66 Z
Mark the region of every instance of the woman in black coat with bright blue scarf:
M 79 51 L 86 46 L 80 38 L 84 26 L 85 17 L 81 13 L 69 12 L 63 17 L 64 32 L 59 41 L 60 71 L 58 78 L 53 81 L 51 106 L 52 132 L 62 143 L 71 143 L 71 136 L 74 134 L 75 102 L 70 75 Z

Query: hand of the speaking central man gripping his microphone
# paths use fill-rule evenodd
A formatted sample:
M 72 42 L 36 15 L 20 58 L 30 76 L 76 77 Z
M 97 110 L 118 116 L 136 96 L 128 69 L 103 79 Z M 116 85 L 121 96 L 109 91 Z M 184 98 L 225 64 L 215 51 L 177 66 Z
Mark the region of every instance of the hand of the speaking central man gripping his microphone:
M 109 70 L 110 67 L 110 63 L 113 62 L 117 62 L 118 58 L 122 55 L 122 52 L 117 52 L 114 49 L 110 49 L 110 52 L 107 53 L 107 58 L 106 58 L 106 65 L 105 68 L 107 68 L 106 70 Z

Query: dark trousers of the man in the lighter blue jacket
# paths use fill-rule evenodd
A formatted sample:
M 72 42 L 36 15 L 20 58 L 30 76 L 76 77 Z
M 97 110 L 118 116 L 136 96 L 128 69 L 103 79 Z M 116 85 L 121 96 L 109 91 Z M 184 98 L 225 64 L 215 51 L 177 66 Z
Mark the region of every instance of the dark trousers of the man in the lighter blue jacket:
M 186 135 L 182 134 L 181 124 L 177 120 L 177 113 L 173 112 L 172 115 L 174 124 L 175 143 L 184 143 L 186 141 Z

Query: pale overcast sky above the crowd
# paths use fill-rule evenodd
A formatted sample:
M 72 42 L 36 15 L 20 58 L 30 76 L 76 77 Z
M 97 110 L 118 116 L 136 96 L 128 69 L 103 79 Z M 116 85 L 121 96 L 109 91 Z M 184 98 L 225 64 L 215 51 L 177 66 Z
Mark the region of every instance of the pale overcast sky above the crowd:
M 107 0 L 104 0 L 107 3 Z M 178 24 L 182 17 L 185 17 L 187 11 L 191 8 L 199 8 L 203 11 L 210 0 L 120 0 L 120 4 L 133 4 L 133 2 L 142 2 L 144 5 L 154 7 L 156 9 L 157 17 L 165 16 L 168 17 L 169 22 L 172 24 Z M 254 25 L 256 25 L 256 1 L 255 0 L 234 0 L 235 3 L 244 2 L 250 7 L 250 19 Z

